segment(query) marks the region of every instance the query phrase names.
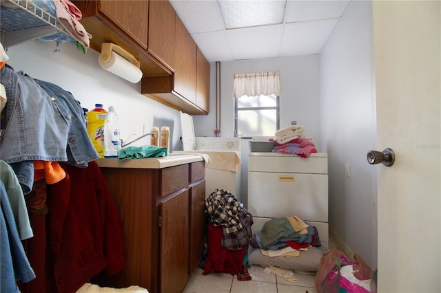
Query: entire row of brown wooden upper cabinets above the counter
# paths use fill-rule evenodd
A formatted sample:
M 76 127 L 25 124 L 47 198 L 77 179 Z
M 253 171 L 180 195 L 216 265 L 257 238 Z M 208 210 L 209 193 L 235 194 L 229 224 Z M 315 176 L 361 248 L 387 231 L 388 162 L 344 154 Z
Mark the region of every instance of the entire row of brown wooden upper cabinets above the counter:
M 209 63 L 170 1 L 72 0 L 92 34 L 90 48 L 114 43 L 140 63 L 141 94 L 190 115 L 209 113 Z

